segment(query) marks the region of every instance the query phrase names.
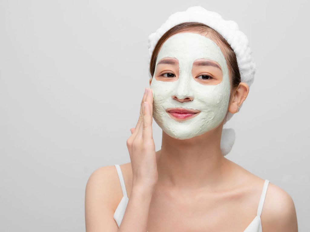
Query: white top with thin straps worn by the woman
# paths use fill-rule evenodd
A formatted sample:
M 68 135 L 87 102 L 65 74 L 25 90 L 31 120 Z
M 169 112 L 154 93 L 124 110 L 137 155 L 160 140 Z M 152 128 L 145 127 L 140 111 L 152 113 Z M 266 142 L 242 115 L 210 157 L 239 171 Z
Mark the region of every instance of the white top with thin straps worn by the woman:
M 127 196 L 127 191 L 126 191 L 126 187 L 125 187 L 125 182 L 124 182 L 122 170 L 118 164 L 115 164 L 114 166 L 116 167 L 118 178 L 120 180 L 122 191 L 123 191 L 122 200 L 118 204 L 118 206 L 114 212 L 114 215 L 113 215 L 113 218 L 117 223 L 117 226 L 120 227 L 129 199 Z M 250 225 L 248 227 L 246 227 L 246 230 L 243 232 L 262 232 L 262 222 L 260 219 L 260 215 L 262 213 L 263 204 L 265 201 L 268 184 L 269 184 L 269 180 L 265 180 L 265 183 L 263 186 L 263 191 L 262 191 L 262 194 L 260 196 L 260 200 L 259 200 L 259 204 L 258 204 L 257 215 L 254 217 L 253 221 L 251 221 Z

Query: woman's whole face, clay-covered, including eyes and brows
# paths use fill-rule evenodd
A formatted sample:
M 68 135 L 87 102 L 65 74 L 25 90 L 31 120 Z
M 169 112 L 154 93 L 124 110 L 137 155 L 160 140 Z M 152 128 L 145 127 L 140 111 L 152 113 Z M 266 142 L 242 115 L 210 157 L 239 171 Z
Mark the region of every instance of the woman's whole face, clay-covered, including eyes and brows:
M 153 118 L 176 139 L 202 135 L 224 120 L 230 96 L 228 67 L 221 49 L 197 33 L 168 38 L 158 53 L 150 85 Z M 168 112 L 192 110 L 196 114 Z

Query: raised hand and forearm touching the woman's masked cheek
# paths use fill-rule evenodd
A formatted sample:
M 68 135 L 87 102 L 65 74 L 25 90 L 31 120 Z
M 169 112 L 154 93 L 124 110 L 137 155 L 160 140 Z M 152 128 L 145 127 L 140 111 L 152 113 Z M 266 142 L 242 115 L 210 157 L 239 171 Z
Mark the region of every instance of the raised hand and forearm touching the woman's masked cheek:
M 146 231 L 149 206 L 158 178 L 152 129 L 152 104 L 153 92 L 151 89 L 146 89 L 138 123 L 131 129 L 132 135 L 126 142 L 132 166 L 132 190 L 118 232 Z

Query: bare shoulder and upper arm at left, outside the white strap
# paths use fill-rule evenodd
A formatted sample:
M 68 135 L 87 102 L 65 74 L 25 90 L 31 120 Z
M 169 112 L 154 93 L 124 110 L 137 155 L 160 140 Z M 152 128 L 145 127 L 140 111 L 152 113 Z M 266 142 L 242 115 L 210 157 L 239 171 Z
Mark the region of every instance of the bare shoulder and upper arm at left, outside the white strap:
M 127 166 L 120 167 L 123 171 Z M 113 214 L 122 196 L 116 167 L 109 165 L 96 169 L 88 178 L 85 189 L 86 231 L 116 229 Z

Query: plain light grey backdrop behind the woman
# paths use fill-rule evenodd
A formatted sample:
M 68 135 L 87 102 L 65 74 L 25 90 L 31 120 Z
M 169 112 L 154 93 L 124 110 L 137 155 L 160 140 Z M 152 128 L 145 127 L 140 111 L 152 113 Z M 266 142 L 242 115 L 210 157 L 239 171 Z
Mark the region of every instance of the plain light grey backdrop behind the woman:
M 87 179 L 130 162 L 148 35 L 194 5 L 236 21 L 257 63 L 227 123 L 236 142 L 226 157 L 287 191 L 309 231 L 309 3 L 300 0 L 1 0 L 1 231 L 85 231 Z

